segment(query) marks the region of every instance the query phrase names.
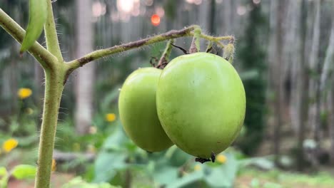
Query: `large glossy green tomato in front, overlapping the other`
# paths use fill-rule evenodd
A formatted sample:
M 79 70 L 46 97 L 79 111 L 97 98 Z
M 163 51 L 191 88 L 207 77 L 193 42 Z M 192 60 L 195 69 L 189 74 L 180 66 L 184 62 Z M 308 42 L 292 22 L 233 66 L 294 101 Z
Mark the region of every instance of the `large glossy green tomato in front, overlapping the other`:
M 246 96 L 231 63 L 211 53 L 174 58 L 156 93 L 158 117 L 172 142 L 208 159 L 231 145 L 243 125 Z

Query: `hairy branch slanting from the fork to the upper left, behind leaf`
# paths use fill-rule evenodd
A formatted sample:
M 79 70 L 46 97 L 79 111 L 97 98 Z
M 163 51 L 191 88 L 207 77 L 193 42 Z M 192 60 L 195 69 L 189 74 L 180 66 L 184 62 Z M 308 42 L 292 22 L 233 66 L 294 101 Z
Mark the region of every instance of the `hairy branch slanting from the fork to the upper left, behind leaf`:
M 22 43 L 26 31 L 24 31 L 21 26 L 19 26 L 16 21 L 11 19 L 11 17 L 6 14 L 2 9 L 0 9 L 0 26 L 9 33 L 13 38 L 16 39 L 19 43 Z M 53 56 L 49 51 L 46 50 L 41 44 L 37 41 L 28 49 L 28 52 L 36 58 L 43 68 L 51 68 L 56 57 Z

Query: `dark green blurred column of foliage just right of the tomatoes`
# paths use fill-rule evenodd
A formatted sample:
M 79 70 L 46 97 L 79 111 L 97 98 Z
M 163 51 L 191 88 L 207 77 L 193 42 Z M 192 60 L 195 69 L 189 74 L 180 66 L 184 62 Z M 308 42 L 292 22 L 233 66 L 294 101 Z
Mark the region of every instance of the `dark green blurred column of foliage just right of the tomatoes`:
M 238 43 L 238 61 L 248 73 L 241 75 L 246 90 L 246 134 L 238 140 L 238 146 L 251 155 L 263 139 L 265 118 L 265 49 L 260 37 L 267 26 L 260 4 L 253 4 L 246 26 L 246 36 Z

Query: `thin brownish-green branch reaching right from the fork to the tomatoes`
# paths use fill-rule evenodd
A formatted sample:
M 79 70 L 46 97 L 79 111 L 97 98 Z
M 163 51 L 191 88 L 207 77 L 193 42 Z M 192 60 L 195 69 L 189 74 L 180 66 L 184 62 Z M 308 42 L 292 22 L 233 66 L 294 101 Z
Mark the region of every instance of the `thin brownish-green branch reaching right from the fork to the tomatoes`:
M 69 62 L 69 64 L 71 65 L 71 68 L 75 69 L 75 68 L 79 68 L 79 67 L 85 65 L 88 62 L 94 61 L 94 60 L 99 59 L 99 58 L 103 58 L 105 56 L 110 56 L 114 53 L 128 51 L 128 50 L 131 50 L 133 48 L 139 48 L 141 46 L 147 46 L 147 45 L 150 45 L 150 44 L 153 44 L 153 43 L 166 41 L 166 40 L 172 39 L 172 38 L 179 38 L 179 37 L 182 37 L 182 36 L 192 36 L 191 31 L 193 31 L 193 29 L 197 28 L 197 27 L 198 26 L 189 26 L 189 27 L 183 28 L 181 30 L 168 31 L 167 33 L 163 33 L 163 34 L 157 35 L 157 36 L 151 36 L 151 37 L 148 37 L 148 38 L 141 39 L 139 41 L 134 41 L 134 42 L 131 42 L 131 43 L 125 43 L 125 44 L 122 44 L 122 45 L 113 46 L 111 48 L 106 48 L 106 49 L 102 49 L 102 50 L 98 50 L 98 51 L 93 51 L 91 53 L 88 53 L 86 56 L 83 56 L 79 59 L 76 59 L 74 61 Z

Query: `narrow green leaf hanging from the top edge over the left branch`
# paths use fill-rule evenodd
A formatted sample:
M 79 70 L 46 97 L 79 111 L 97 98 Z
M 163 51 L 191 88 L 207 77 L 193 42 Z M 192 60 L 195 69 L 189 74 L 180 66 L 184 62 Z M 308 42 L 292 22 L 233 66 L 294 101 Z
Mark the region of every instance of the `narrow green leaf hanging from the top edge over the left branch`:
M 35 43 L 37 38 L 39 38 L 43 31 L 47 14 L 46 0 L 29 1 L 29 23 L 26 28 L 26 36 L 24 36 L 20 52 L 29 49 Z

